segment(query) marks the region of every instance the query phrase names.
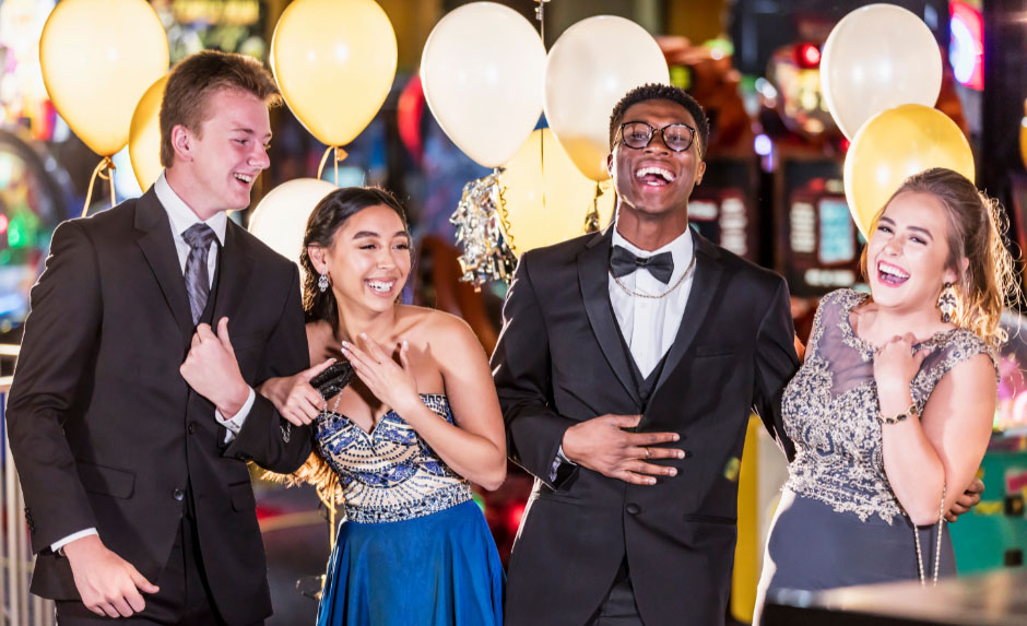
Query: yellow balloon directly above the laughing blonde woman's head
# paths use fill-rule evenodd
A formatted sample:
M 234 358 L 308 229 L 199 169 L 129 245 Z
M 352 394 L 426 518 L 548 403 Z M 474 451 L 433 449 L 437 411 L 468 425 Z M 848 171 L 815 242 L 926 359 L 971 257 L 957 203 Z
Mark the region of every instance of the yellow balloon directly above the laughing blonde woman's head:
M 973 180 L 970 143 L 942 111 L 908 104 L 877 114 L 860 128 L 846 155 L 845 187 L 849 211 L 864 237 L 902 181 L 931 167 Z

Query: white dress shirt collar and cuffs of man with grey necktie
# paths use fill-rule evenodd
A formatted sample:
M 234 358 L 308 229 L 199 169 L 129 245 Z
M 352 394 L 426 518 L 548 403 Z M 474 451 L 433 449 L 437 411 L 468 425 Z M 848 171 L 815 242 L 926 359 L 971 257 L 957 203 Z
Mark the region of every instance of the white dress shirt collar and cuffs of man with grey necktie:
M 167 184 L 167 179 L 164 177 L 163 172 L 161 173 L 161 176 L 157 177 L 156 182 L 153 184 L 153 191 L 156 193 L 157 200 L 161 201 L 161 204 L 167 212 L 167 218 L 172 224 L 172 235 L 175 241 L 175 250 L 178 252 L 178 267 L 181 268 L 182 280 L 185 280 L 186 259 L 189 258 L 190 247 L 189 244 L 186 243 L 186 239 L 182 238 L 181 234 L 197 222 L 203 222 L 203 220 L 200 220 L 197 214 L 192 212 L 192 209 L 190 209 L 189 205 L 186 204 L 186 202 L 179 198 L 177 193 L 175 193 L 170 185 Z M 223 246 L 225 243 L 225 229 L 228 227 L 228 215 L 224 211 L 219 211 L 214 214 L 213 217 L 206 220 L 204 223 L 210 226 L 212 231 L 214 231 L 214 235 L 217 237 L 219 246 Z M 213 245 L 212 241 L 211 249 L 206 255 L 206 275 L 210 279 L 211 284 L 209 286 L 211 287 L 214 286 L 214 272 L 217 270 L 219 246 Z M 243 408 L 239 409 L 239 412 L 233 415 L 231 420 L 225 420 L 224 415 L 221 414 L 221 411 L 217 411 L 216 409 L 214 410 L 214 418 L 227 430 L 225 434 L 226 444 L 235 439 L 235 436 L 239 434 L 239 430 L 243 428 L 243 422 L 245 422 L 246 416 L 249 415 L 250 409 L 253 408 L 253 401 L 256 399 L 257 393 L 252 388 L 250 388 L 246 403 L 243 404 Z M 88 536 L 91 534 L 99 533 L 96 532 L 95 528 L 80 530 L 76 533 L 70 534 L 59 541 L 54 542 L 50 544 L 50 550 L 57 552 L 76 539 Z

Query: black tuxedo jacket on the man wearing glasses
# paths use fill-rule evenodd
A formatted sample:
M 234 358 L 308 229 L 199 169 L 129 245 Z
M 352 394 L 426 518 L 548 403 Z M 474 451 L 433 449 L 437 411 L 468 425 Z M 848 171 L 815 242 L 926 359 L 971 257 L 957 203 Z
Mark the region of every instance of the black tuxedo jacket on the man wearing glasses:
M 612 226 L 520 260 L 493 355 L 512 459 L 535 475 L 510 557 L 510 626 L 585 624 L 627 556 L 646 624 L 721 624 L 734 557 L 737 472 L 752 410 L 790 452 L 780 395 L 798 368 L 784 281 L 695 234 L 681 329 L 638 432 L 674 432 L 677 475 L 629 485 L 580 466 L 550 480 L 564 432 L 641 412 L 617 336 Z

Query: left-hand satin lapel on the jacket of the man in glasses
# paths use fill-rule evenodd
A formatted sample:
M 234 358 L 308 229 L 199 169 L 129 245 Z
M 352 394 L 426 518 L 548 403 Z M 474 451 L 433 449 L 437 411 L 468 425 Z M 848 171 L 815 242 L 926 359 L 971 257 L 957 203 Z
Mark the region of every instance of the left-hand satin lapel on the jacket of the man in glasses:
M 631 377 L 631 365 L 627 354 L 617 336 L 617 320 L 610 305 L 610 279 L 607 267 L 610 264 L 610 243 L 613 240 L 613 226 L 607 226 L 605 233 L 595 235 L 585 250 L 578 255 L 578 281 L 581 284 L 581 297 L 585 300 L 585 310 L 589 316 L 589 323 L 595 340 L 599 342 L 610 367 L 613 368 L 617 380 L 631 395 L 631 399 L 641 404 L 635 379 Z

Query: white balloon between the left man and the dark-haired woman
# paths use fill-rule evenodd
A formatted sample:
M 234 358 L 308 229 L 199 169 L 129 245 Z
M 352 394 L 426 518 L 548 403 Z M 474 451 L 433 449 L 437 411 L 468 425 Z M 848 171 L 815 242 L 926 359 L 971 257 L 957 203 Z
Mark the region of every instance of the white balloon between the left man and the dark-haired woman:
M 299 264 L 303 235 L 314 208 L 332 190 L 327 180 L 296 178 L 272 189 L 249 218 L 249 232 L 286 259 Z M 303 273 L 303 267 L 299 268 Z

